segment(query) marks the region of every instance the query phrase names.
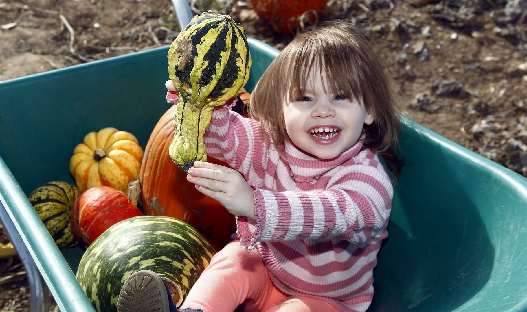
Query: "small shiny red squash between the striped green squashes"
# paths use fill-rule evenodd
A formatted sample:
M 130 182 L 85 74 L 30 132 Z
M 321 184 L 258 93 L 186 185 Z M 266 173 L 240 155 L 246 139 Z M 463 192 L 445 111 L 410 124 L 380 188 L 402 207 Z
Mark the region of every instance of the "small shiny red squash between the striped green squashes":
M 96 186 L 87 189 L 75 200 L 71 211 L 71 229 L 73 235 L 88 246 L 112 225 L 141 215 L 123 193 L 109 186 Z

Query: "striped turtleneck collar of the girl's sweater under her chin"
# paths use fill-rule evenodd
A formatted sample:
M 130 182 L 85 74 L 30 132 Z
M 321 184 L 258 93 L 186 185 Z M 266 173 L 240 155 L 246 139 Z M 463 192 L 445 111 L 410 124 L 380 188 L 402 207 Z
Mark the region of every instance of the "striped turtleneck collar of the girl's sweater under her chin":
M 364 134 L 352 147 L 333 159 L 321 159 L 298 148 L 289 137 L 285 142 L 285 154 L 291 169 L 289 174 L 296 182 L 313 182 L 330 169 L 352 159 L 363 148 Z

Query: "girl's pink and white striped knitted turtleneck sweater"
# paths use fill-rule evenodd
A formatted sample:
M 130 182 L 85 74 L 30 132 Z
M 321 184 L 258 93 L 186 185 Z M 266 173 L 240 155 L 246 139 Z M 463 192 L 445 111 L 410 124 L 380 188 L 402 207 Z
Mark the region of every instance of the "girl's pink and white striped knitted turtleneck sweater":
M 232 104 L 213 110 L 204 143 L 255 188 L 258 220 L 237 217 L 241 247 L 258 248 L 284 293 L 365 311 L 393 197 L 377 154 L 358 142 L 324 160 L 289 141 L 284 159 L 264 142 L 259 123 L 232 112 Z

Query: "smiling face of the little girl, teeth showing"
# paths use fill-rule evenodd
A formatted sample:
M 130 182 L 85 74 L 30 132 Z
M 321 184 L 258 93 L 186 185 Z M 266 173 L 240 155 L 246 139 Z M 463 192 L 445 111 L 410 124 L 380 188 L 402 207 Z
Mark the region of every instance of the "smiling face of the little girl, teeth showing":
M 326 73 L 320 76 L 313 66 L 306 81 L 305 93 L 290 98 L 283 106 L 286 131 L 291 141 L 305 152 L 321 159 L 339 156 L 357 143 L 364 124 L 374 118 L 362 101 L 347 94 L 333 94 L 323 87 Z

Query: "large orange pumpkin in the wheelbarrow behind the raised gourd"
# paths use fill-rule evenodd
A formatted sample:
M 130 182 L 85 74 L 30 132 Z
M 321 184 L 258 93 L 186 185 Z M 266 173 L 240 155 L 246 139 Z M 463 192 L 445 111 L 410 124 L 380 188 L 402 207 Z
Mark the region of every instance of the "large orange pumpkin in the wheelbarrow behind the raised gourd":
M 155 125 L 144 150 L 139 174 L 143 212 L 183 220 L 220 250 L 236 232 L 235 217 L 216 200 L 199 193 L 170 158 L 175 107 L 172 105 Z M 207 162 L 228 166 L 212 157 Z

